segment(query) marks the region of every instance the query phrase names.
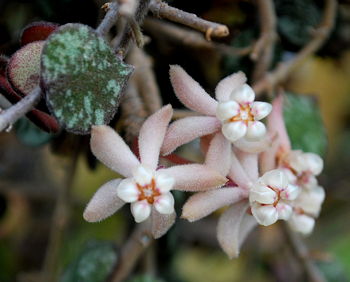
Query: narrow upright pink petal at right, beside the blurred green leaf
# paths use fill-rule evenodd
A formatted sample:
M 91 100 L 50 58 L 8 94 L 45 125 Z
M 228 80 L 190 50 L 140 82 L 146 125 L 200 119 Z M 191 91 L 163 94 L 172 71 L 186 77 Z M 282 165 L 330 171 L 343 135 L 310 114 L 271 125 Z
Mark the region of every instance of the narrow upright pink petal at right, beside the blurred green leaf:
M 291 144 L 283 118 L 283 95 L 279 95 L 272 102 L 272 112 L 267 118 L 267 127 L 270 134 L 277 133 L 282 150 L 289 152 Z

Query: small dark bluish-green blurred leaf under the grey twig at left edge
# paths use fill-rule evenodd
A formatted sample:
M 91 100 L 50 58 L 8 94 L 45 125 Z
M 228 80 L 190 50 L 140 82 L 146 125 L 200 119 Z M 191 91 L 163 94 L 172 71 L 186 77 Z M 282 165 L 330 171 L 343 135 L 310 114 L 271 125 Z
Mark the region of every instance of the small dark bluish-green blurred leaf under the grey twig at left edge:
M 54 136 L 53 134 L 42 131 L 26 118 L 19 119 L 15 123 L 14 128 L 17 138 L 27 146 L 42 146 L 48 143 Z

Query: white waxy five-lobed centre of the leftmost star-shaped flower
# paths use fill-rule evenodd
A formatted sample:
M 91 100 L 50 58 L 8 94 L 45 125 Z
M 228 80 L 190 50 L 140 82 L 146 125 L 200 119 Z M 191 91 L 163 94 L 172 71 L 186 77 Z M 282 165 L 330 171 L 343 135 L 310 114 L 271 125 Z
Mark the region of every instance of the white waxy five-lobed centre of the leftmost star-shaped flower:
M 169 192 L 175 180 L 164 173 L 156 173 L 143 165 L 138 166 L 132 178 L 124 179 L 117 187 L 117 195 L 131 203 L 131 212 L 136 222 L 146 220 L 151 206 L 161 214 L 174 212 L 174 197 Z

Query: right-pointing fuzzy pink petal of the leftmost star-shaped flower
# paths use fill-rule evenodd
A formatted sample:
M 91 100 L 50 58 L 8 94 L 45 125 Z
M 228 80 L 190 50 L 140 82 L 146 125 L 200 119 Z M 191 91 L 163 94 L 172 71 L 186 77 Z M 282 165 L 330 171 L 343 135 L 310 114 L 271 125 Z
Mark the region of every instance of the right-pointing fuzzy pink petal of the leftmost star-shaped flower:
M 217 171 L 200 164 L 178 165 L 164 169 L 175 178 L 174 190 L 206 191 L 224 185 L 227 179 Z

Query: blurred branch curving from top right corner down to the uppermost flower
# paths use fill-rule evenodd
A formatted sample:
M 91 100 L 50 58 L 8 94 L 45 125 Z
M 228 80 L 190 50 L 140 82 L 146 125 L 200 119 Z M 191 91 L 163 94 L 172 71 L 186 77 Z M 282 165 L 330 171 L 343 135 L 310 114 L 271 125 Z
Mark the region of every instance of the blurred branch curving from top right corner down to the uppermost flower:
M 333 29 L 336 11 L 336 0 L 325 0 L 325 11 L 321 24 L 313 32 L 313 39 L 292 59 L 281 63 L 275 70 L 271 71 L 254 84 L 254 90 L 257 95 L 262 92 L 273 89 L 277 84 L 284 81 L 290 73 L 307 57 L 315 53 L 327 40 Z

